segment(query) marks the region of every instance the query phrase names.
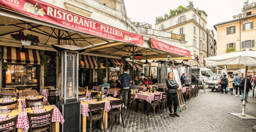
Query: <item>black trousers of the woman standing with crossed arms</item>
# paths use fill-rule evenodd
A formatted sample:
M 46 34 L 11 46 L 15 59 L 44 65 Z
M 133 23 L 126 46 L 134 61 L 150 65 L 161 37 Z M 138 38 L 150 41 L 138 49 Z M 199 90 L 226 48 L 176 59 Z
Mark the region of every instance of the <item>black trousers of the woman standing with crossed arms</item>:
M 168 103 L 168 108 L 170 113 L 172 113 L 172 102 L 174 106 L 174 112 L 177 112 L 177 107 L 178 107 L 178 97 L 177 93 L 168 93 L 167 94 L 167 103 Z

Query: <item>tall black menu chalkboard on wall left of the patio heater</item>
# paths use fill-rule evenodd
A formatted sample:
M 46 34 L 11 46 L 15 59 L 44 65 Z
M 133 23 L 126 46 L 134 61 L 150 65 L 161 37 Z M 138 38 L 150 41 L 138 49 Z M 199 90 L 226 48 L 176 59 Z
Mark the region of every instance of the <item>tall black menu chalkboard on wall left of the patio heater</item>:
M 44 86 L 54 86 L 56 87 L 56 66 L 54 58 L 56 57 L 56 52 L 45 51 L 44 55 L 49 55 L 51 57 L 50 63 L 47 66 L 47 75 L 44 77 Z

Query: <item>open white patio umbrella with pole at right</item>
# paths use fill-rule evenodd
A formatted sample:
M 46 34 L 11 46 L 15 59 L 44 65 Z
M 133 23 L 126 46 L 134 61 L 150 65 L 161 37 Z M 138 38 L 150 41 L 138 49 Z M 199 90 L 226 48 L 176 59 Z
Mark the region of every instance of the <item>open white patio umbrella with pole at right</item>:
M 238 52 L 231 52 L 223 55 L 204 58 L 207 66 L 219 66 L 227 69 L 244 69 L 245 68 L 245 82 L 247 82 L 247 70 L 256 67 L 256 50 L 244 49 Z M 246 92 L 246 83 L 244 85 L 244 93 Z M 245 99 L 245 94 L 244 97 Z M 245 112 L 245 103 L 243 100 L 242 116 Z

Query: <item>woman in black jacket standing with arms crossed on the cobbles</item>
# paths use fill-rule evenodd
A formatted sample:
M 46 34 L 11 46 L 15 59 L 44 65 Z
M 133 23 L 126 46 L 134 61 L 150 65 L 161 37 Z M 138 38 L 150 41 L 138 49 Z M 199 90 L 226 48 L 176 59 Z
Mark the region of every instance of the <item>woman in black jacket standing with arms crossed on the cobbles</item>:
M 180 115 L 177 114 L 177 106 L 178 106 L 178 98 L 177 98 L 177 88 L 179 87 L 178 83 L 174 80 L 174 75 L 172 72 L 168 73 L 167 80 L 166 80 L 168 92 L 167 92 L 167 103 L 168 108 L 170 111 L 170 116 L 174 117 L 180 117 Z M 174 106 L 174 113 L 172 113 L 172 102 Z

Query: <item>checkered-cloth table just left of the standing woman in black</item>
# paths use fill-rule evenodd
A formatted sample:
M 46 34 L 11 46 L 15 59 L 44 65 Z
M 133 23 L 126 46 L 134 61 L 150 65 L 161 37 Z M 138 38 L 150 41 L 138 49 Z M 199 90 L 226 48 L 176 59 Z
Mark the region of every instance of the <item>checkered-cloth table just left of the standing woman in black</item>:
M 149 104 L 154 100 L 154 95 L 160 95 L 160 100 L 163 97 L 163 92 L 138 92 L 136 93 L 134 99 L 136 99 L 136 112 L 138 112 L 138 105 L 139 105 L 139 99 L 145 100 L 147 104 L 147 115 L 148 115 L 148 109 L 149 109 Z M 144 106 L 143 106 L 144 107 Z

